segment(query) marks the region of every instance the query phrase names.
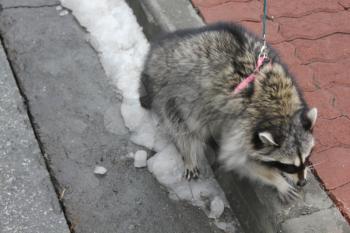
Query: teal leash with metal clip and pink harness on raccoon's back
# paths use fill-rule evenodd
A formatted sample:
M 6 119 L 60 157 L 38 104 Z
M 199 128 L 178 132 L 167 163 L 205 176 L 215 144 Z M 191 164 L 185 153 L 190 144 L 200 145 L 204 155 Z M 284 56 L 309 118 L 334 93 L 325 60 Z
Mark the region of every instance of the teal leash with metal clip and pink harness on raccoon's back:
M 255 69 L 252 74 L 250 74 L 248 77 L 243 79 L 233 90 L 233 94 L 237 94 L 243 89 L 245 89 L 251 82 L 255 80 L 254 73 L 260 70 L 260 67 L 262 64 L 264 64 L 264 61 L 268 60 L 268 54 L 267 54 L 267 46 L 266 46 L 266 18 L 267 18 L 267 0 L 264 0 L 264 15 L 263 15 L 263 29 L 262 29 L 262 38 L 263 38 L 263 45 L 261 46 L 260 53 L 258 56 L 258 61 L 255 65 Z

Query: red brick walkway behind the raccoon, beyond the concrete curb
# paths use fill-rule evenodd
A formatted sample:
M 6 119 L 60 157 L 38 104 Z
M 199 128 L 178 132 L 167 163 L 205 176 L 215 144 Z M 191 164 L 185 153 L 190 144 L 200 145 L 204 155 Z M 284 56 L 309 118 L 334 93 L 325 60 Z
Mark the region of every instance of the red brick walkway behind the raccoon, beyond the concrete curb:
M 205 22 L 261 33 L 262 0 L 192 0 Z M 319 110 L 316 174 L 350 220 L 350 0 L 268 0 L 268 41 Z

